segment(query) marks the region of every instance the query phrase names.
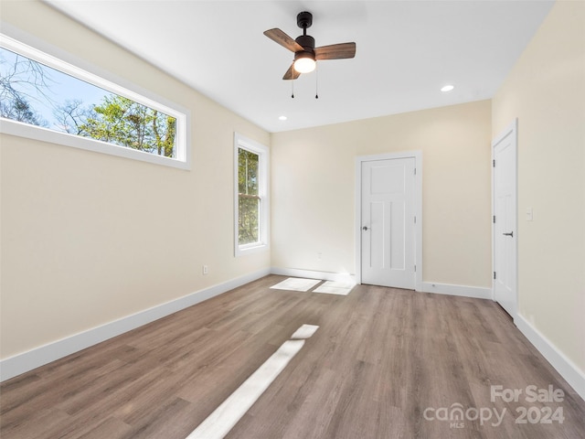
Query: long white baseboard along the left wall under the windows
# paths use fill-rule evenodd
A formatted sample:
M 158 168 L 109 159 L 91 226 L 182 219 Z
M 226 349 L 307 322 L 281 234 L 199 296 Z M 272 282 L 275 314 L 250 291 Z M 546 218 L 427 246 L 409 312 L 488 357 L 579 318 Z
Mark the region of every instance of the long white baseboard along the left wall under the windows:
M 270 273 L 271 271 L 269 269 L 264 269 L 246 274 L 223 284 L 210 286 L 196 293 L 188 294 L 162 305 L 156 305 L 131 316 L 122 317 L 119 320 L 114 320 L 100 327 L 93 327 L 71 337 L 62 338 L 48 345 L 34 348 L 8 359 L 3 359 L 0 361 L 0 381 L 9 380 L 21 373 L 37 369 L 56 359 L 67 357 L 70 354 L 89 348 L 109 338 L 119 336 L 124 332 L 142 327 L 154 322 L 154 320 L 196 305 L 218 294 L 223 294 L 243 284 L 248 284 Z

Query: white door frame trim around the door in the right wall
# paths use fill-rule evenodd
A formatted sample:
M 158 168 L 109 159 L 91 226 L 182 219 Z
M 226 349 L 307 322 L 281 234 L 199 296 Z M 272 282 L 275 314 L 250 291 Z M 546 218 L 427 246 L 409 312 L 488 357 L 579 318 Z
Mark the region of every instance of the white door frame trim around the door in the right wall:
M 492 164 L 495 162 L 495 147 L 499 145 L 506 137 L 509 137 L 514 141 L 514 155 L 513 160 L 514 164 L 512 169 L 514 169 L 514 178 L 512 181 L 513 190 L 512 190 L 512 197 L 513 197 L 513 205 L 514 205 L 514 212 L 515 212 L 515 221 L 514 221 L 514 230 L 516 231 L 516 240 L 514 241 L 513 245 L 513 252 L 512 255 L 512 262 L 514 265 L 512 267 L 512 279 L 514 283 L 514 310 L 512 313 L 512 318 L 516 319 L 516 314 L 518 312 L 518 119 L 516 118 L 514 122 L 510 123 L 505 130 L 497 135 L 495 139 L 492 141 Z M 495 216 L 495 166 L 492 165 L 492 218 Z M 492 273 L 495 273 L 495 222 L 492 220 Z M 494 275 L 492 275 L 492 300 L 495 300 L 495 279 Z

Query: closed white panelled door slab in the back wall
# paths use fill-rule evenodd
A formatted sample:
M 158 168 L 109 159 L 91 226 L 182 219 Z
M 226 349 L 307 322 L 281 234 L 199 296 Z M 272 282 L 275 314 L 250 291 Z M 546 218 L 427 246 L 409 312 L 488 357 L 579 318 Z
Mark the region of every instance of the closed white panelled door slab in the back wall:
M 363 284 L 415 288 L 414 157 L 362 162 Z

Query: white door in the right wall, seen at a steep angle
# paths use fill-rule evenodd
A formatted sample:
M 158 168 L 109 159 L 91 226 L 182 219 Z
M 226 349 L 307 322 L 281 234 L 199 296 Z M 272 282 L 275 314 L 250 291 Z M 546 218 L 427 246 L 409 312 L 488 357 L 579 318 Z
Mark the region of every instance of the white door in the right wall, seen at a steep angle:
M 493 143 L 494 299 L 516 316 L 516 123 Z

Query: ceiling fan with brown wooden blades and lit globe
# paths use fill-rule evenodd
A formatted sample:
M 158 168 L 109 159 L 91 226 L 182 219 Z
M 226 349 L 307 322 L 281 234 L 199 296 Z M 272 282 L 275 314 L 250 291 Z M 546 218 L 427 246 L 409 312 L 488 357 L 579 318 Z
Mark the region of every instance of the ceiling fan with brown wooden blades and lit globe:
M 301 12 L 296 16 L 296 24 L 303 29 L 303 35 L 293 39 L 279 28 L 264 32 L 266 37 L 276 41 L 284 48 L 294 52 L 294 61 L 289 70 L 286 70 L 283 80 L 296 80 L 301 73 L 313 71 L 316 61 L 324 59 L 347 59 L 356 56 L 356 43 L 332 44 L 330 46 L 314 47 L 314 37 L 307 35 L 307 28 L 313 25 L 313 14 Z

